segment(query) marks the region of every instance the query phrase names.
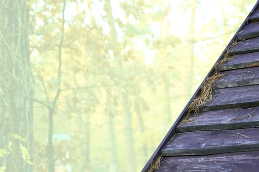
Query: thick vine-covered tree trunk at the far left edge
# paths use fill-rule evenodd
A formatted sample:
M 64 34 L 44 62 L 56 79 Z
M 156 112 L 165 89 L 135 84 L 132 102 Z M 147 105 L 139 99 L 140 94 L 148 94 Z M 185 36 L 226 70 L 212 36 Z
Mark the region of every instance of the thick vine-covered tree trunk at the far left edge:
M 24 0 L 0 2 L 0 167 L 32 172 L 34 81 L 29 51 L 29 9 Z

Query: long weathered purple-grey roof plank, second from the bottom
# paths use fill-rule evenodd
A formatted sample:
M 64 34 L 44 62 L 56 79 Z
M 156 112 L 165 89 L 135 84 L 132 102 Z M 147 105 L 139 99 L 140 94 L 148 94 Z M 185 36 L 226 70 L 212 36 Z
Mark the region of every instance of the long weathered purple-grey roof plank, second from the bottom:
M 259 128 L 178 133 L 162 156 L 208 155 L 259 150 Z

